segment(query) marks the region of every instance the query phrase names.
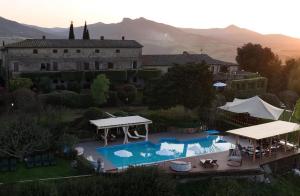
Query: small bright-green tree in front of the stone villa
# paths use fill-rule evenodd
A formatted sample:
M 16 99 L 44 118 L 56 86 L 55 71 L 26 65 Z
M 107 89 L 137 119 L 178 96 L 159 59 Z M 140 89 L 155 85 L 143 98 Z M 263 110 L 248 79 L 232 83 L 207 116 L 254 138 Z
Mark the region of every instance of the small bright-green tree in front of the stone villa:
M 97 105 L 101 105 L 107 101 L 109 84 L 109 79 L 104 74 L 98 75 L 93 81 L 91 92 L 94 102 Z

